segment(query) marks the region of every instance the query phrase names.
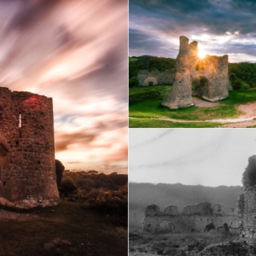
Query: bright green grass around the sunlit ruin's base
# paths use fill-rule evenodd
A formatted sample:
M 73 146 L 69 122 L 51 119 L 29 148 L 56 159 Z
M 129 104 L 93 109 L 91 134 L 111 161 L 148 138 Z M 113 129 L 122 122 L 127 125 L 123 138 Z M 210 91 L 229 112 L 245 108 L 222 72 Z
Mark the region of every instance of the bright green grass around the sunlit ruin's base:
M 165 97 L 167 92 L 170 90 L 171 84 L 158 84 L 153 87 L 136 87 L 130 88 L 130 93 L 145 91 L 145 90 L 159 90 L 160 94 Z M 162 100 L 159 99 L 148 99 L 143 100 L 141 102 L 134 102 L 130 105 L 129 115 L 130 117 L 137 118 L 170 118 L 170 119 L 184 119 L 184 120 L 207 120 L 207 119 L 228 119 L 228 118 L 238 118 L 243 113 L 236 109 L 236 106 L 239 104 L 245 104 L 247 102 L 256 102 L 256 92 L 255 91 L 230 91 L 230 96 L 222 101 L 218 107 L 213 108 L 197 108 L 197 107 L 189 107 L 182 109 L 169 109 L 162 108 L 160 103 Z M 142 120 L 140 120 L 142 121 Z M 152 122 L 150 120 L 149 122 Z M 135 125 L 136 121 L 131 121 L 131 125 L 133 127 L 137 127 Z M 156 125 L 156 124 L 155 124 Z M 174 124 L 169 124 L 174 125 Z M 210 124 L 190 124 L 191 127 L 209 127 L 212 126 Z M 189 125 L 189 126 L 190 126 Z M 152 127 L 156 127 L 151 125 Z M 175 127 L 178 125 L 175 124 Z M 184 124 L 181 124 L 184 127 Z M 213 126 L 216 126 L 213 125 Z M 140 126 L 139 126 L 140 127 Z M 148 124 L 147 124 L 148 127 Z M 172 127 L 172 126 L 165 126 Z

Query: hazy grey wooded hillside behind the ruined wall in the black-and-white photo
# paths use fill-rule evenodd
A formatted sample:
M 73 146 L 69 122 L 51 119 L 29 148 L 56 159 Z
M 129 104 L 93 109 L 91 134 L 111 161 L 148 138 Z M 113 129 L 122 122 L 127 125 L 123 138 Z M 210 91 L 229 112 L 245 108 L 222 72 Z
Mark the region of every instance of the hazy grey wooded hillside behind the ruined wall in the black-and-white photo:
M 156 204 L 164 207 L 175 205 L 179 210 L 189 204 L 199 202 L 218 202 L 236 207 L 236 201 L 241 194 L 241 187 L 218 188 L 201 185 L 188 186 L 177 184 L 129 183 L 129 226 L 131 230 L 141 229 L 145 208 Z

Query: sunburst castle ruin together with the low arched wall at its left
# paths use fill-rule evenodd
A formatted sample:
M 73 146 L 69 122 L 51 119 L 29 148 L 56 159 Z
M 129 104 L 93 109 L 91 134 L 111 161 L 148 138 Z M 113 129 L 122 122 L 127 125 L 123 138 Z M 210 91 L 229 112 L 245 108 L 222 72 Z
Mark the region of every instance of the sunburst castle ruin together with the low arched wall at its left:
M 163 80 L 165 83 L 173 83 L 162 102 L 162 105 L 168 108 L 185 108 L 193 105 L 192 94 L 210 102 L 217 102 L 229 96 L 228 55 L 206 55 L 200 58 L 197 44 L 196 41 L 189 44 L 189 38 L 180 37 L 175 69 L 162 74 L 140 72 L 137 77 L 139 85 L 160 84 L 164 83 Z M 166 79 L 158 79 L 159 77 Z

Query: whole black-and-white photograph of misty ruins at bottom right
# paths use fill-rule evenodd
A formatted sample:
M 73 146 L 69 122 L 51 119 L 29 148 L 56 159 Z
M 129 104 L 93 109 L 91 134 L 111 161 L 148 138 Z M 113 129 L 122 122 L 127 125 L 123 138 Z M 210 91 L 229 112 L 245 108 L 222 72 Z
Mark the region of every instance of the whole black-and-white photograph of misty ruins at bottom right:
M 130 129 L 130 255 L 255 255 L 254 129 Z

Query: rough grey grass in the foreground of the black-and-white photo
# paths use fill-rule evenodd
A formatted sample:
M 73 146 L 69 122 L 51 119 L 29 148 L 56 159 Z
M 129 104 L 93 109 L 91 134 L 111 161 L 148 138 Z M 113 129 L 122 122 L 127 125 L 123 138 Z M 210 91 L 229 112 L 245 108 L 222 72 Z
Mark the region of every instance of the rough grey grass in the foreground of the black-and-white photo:
M 154 236 L 140 236 L 131 231 L 129 234 L 130 255 L 187 255 L 182 253 L 184 247 L 188 247 L 195 253 L 201 252 L 210 244 L 234 241 L 238 235 L 220 232 L 208 233 L 179 233 L 162 234 Z M 188 249 L 186 249 L 188 251 Z M 190 255 L 190 254 L 189 254 Z M 192 253 L 191 255 L 196 255 Z

